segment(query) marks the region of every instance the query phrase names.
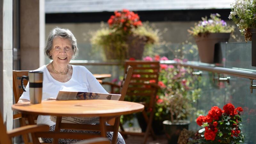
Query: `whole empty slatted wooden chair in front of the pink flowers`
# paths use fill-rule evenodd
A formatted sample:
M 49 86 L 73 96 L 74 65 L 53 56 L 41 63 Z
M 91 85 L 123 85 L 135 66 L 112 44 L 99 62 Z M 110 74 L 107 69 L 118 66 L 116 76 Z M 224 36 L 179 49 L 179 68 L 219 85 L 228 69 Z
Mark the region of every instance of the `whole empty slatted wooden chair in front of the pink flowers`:
M 121 128 L 123 132 L 120 133 L 123 135 L 144 136 L 143 143 L 145 144 L 149 133 L 151 133 L 153 139 L 156 139 L 151 125 L 154 118 L 156 94 L 159 88 L 158 76 L 160 64 L 158 61 L 127 60 L 125 61 L 124 67 L 127 68 L 128 66 L 133 68 L 133 73 L 126 97 L 131 101 L 144 104 L 145 109 L 142 111 L 142 115 L 147 123 L 147 128 L 145 133 L 125 132 L 124 129 Z M 138 99 L 141 101 L 138 101 Z

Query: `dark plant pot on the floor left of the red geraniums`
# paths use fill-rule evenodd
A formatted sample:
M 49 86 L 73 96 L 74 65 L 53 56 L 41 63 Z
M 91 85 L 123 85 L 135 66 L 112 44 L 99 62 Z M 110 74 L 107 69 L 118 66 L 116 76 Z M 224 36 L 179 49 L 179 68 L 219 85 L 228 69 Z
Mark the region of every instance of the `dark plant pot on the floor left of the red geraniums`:
M 166 120 L 163 121 L 164 132 L 168 139 L 168 144 L 177 144 L 180 132 L 185 128 L 188 129 L 190 124 L 187 120 L 174 120 L 173 122 Z

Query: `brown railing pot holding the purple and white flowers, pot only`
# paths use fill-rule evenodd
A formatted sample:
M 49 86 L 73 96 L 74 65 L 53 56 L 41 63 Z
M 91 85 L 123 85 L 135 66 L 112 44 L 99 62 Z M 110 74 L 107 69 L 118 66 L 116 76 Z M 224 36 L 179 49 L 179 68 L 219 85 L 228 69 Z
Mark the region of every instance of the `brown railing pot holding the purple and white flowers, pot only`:
M 204 33 L 195 36 L 200 61 L 204 63 L 214 62 L 214 47 L 220 42 L 227 42 L 230 33 Z

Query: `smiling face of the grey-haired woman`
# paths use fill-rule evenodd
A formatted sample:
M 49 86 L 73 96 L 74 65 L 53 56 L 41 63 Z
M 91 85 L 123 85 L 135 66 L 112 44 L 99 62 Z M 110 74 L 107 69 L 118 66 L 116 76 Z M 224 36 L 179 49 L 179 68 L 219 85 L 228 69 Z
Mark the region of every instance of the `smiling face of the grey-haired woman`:
M 52 55 L 52 60 L 55 64 L 60 66 L 68 65 L 73 54 L 72 45 L 68 39 L 59 36 L 53 38 L 50 55 Z

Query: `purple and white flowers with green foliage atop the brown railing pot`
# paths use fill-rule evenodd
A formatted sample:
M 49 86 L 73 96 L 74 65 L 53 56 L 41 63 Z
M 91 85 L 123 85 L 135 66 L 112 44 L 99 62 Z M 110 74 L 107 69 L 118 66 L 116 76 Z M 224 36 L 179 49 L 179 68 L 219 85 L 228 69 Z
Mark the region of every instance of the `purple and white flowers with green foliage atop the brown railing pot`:
M 232 33 L 234 27 L 221 20 L 220 14 L 212 13 L 210 19 L 202 17 L 202 20 L 195 23 L 195 26 L 191 27 L 191 30 L 188 29 L 188 32 L 192 36 L 200 36 L 202 33 Z

